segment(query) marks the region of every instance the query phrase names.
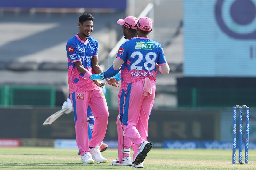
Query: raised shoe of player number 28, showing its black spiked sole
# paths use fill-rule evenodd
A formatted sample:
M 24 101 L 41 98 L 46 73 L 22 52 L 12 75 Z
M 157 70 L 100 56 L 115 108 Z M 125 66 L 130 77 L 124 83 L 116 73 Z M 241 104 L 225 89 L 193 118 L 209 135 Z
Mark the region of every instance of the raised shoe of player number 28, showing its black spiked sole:
M 152 144 L 150 142 L 143 142 L 138 150 L 137 155 L 134 158 L 134 164 L 135 165 L 139 165 L 140 163 L 142 163 L 144 161 L 144 159 L 147 156 L 147 153 L 150 151 L 150 149 L 152 148 Z

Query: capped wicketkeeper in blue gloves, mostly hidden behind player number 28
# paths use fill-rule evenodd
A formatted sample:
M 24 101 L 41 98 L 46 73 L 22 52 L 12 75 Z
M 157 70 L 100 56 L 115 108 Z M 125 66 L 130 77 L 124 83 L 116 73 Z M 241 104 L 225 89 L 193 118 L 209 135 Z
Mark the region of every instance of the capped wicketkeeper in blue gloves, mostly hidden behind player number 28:
M 137 27 L 138 19 L 134 16 L 128 16 L 124 19 L 119 19 L 117 24 L 122 25 L 122 30 L 124 34 L 124 38 L 128 40 L 132 40 L 137 38 Z M 118 54 L 122 53 L 122 48 L 119 48 Z M 123 63 L 122 67 L 118 70 L 114 70 L 113 66 L 111 66 L 107 71 L 104 72 L 103 75 L 101 74 L 93 74 L 90 79 L 103 79 L 109 78 L 116 75 L 120 70 L 123 70 L 126 67 L 126 64 Z M 123 118 L 123 105 L 124 105 L 124 96 L 126 91 L 127 83 L 121 78 L 121 86 L 118 93 L 118 111 L 119 115 L 117 116 L 117 135 L 118 135 L 118 159 L 112 161 L 112 165 L 132 165 L 130 152 L 131 146 L 133 146 L 131 140 L 123 135 L 124 126 L 122 122 Z M 135 154 L 134 154 L 135 157 Z

